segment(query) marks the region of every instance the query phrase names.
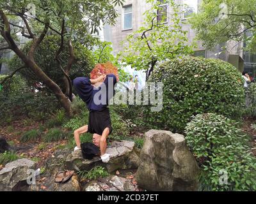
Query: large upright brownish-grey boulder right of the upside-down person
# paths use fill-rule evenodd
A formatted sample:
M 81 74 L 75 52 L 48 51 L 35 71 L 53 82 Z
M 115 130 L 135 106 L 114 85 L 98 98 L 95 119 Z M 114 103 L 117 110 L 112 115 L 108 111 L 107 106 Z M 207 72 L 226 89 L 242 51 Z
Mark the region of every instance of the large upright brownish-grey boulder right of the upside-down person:
M 183 135 L 150 130 L 140 153 L 138 185 L 150 191 L 196 191 L 199 173 Z

